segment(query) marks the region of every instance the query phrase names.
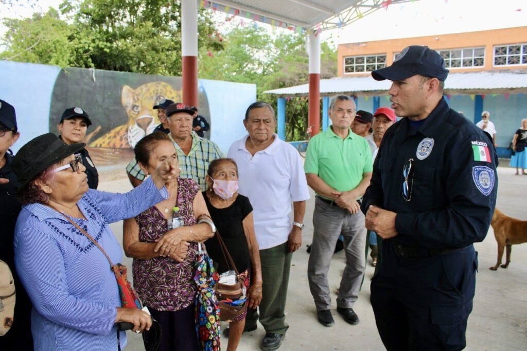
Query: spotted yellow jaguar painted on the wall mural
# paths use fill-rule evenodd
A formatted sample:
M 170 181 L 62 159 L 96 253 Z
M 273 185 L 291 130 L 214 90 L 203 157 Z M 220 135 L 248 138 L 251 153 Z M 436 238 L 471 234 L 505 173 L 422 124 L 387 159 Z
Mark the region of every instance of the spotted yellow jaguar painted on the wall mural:
M 160 123 L 157 111 L 152 109 L 152 106 L 157 105 L 163 99 L 181 101 L 181 90 L 177 91 L 164 82 L 146 83 L 136 89 L 124 85 L 121 103 L 128 116 L 128 121 L 97 138 L 90 146 L 118 149 L 135 147 L 141 138 L 152 133 Z

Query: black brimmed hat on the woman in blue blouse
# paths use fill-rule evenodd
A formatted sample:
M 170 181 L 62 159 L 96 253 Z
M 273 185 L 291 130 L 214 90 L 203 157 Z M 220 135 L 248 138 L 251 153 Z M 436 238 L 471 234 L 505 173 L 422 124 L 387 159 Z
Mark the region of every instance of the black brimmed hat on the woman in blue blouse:
M 20 187 L 26 186 L 46 168 L 82 150 L 86 144 L 68 145 L 53 133 L 40 135 L 16 153 L 11 167 Z

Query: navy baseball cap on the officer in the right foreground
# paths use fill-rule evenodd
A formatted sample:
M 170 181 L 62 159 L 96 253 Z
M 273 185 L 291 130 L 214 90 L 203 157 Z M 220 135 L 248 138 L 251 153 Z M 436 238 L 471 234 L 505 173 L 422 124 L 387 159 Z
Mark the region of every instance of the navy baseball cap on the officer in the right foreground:
M 444 82 L 448 70 L 445 69 L 445 60 L 437 51 L 428 46 L 411 45 L 399 53 L 391 66 L 372 72 L 376 81 L 401 81 L 416 74 Z

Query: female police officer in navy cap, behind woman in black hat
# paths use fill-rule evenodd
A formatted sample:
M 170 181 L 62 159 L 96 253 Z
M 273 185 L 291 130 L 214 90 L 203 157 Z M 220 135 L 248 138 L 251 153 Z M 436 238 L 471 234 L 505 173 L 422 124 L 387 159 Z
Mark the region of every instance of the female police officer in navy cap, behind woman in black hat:
M 68 145 L 80 143 L 86 136 L 86 130 L 91 124 L 90 117 L 83 109 L 78 107 L 66 109 L 62 114 L 60 123 L 58 123 L 60 138 Z M 85 148 L 79 150 L 79 154 L 82 158 L 82 164 L 86 167 L 84 172 L 88 176 L 88 186 L 90 189 L 97 189 L 99 173 L 97 173 L 90 154 Z

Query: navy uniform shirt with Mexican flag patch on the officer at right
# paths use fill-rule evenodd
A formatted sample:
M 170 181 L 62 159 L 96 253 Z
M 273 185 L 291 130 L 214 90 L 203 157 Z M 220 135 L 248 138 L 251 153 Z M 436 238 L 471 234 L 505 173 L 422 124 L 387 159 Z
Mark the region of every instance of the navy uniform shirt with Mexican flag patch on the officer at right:
M 407 246 L 458 248 L 483 241 L 497 192 L 492 142 L 442 99 L 424 122 L 408 132 L 404 118 L 386 131 L 362 211 L 374 204 L 397 213 L 398 235 Z M 403 198 L 404 164 L 411 199 Z

